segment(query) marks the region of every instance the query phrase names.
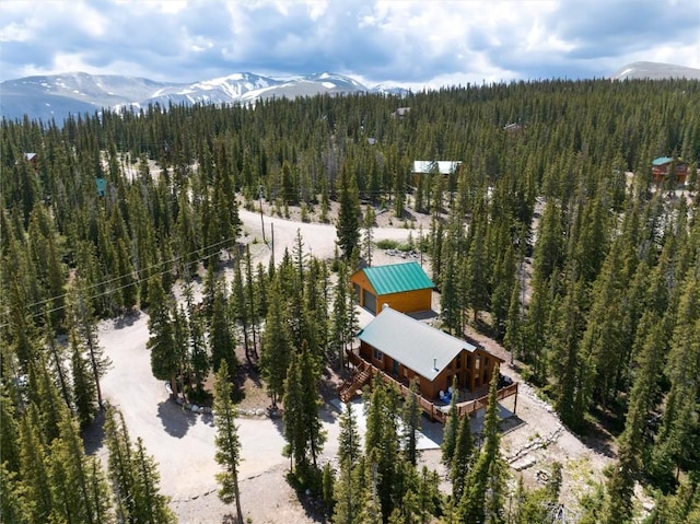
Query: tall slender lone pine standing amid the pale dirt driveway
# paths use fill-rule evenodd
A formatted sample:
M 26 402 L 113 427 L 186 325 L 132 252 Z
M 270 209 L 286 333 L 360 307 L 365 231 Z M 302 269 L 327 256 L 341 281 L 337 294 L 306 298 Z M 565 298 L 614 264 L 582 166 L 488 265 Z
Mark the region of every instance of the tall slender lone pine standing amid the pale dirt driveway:
M 235 424 L 236 408 L 231 399 L 231 383 L 225 360 L 221 361 L 214 382 L 214 426 L 217 427 L 215 461 L 223 471 L 217 474 L 221 485 L 219 499 L 230 504 L 236 503 L 236 522 L 243 522 L 241 493 L 238 490 L 238 464 L 241 463 L 241 442 Z

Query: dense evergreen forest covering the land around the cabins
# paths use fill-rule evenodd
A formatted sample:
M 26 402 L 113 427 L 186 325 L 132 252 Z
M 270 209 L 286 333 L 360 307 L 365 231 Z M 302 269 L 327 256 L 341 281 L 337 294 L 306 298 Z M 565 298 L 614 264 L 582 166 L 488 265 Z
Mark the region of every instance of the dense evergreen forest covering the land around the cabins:
M 415 399 L 378 382 L 365 441 L 346 411 L 337 470 L 317 461 L 317 386 L 346 366 L 359 327 L 348 278 L 371 258 L 378 212 L 430 218 L 418 248 L 446 331 L 498 340 L 567 428 L 609 434 L 614 466 L 578 522 L 639 522 L 635 486 L 655 501 L 644 522 L 700 522 L 700 82 L 153 105 L 3 120 L 0 148 L 2 522 L 174 522 L 156 464 L 100 388 L 98 323 L 135 310 L 149 314 L 152 373 L 175 394 L 211 396 L 215 373 L 230 424 L 220 497 L 238 515 L 224 416 L 235 347 L 284 406 L 290 482 L 318 494 L 328 522 L 556 522 L 560 474 L 535 490 L 510 482 L 495 409 L 480 446 L 450 419 L 450 493 L 418 465 Z M 685 184 L 654 181 L 660 156 L 689 164 Z M 416 160 L 460 164 L 415 175 Z M 255 265 L 238 206 L 261 201 L 335 222 L 335 259 L 304 253 L 300 236 L 278 264 Z M 97 419 L 107 465 L 81 441 Z

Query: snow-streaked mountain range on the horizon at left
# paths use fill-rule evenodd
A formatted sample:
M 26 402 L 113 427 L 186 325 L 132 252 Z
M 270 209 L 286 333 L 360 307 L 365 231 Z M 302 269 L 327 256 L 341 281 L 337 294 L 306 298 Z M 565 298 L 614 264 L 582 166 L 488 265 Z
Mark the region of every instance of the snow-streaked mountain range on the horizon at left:
M 144 107 L 168 104 L 250 104 L 270 97 L 313 96 L 319 93 L 346 94 L 378 92 L 405 96 L 401 88 L 369 89 L 342 74 L 323 72 L 291 78 L 272 78 L 250 72 L 199 82 L 172 83 L 112 74 L 71 72 L 46 77 L 26 77 L 0 82 L 0 114 L 8 119 L 55 119 L 69 115 L 93 114 L 102 108 Z

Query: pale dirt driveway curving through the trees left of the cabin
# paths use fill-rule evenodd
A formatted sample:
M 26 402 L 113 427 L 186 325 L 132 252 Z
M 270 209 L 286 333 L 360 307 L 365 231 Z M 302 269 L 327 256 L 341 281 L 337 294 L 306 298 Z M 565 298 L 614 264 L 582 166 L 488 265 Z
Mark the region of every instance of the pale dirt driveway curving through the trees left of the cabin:
M 241 210 L 241 220 L 252 246 L 254 261 L 267 264 L 271 249 L 261 242 L 259 213 Z M 335 252 L 336 229 L 329 224 L 301 223 L 265 217 L 267 238 L 275 224 L 275 257 L 295 245 L 301 232 L 304 249 L 330 258 Z M 376 229 L 375 238 L 405 241 L 407 229 Z M 258 242 L 254 242 L 257 238 Z M 381 255 L 380 255 L 381 256 Z M 141 438 L 160 465 L 162 491 L 173 498 L 180 523 L 221 522 L 226 508 L 215 496 L 214 428 L 211 416 L 195 415 L 168 400 L 164 383 L 151 374 L 148 315 L 104 322 L 100 343 L 113 361 L 102 381 L 105 399 L 124 414 L 132 439 Z M 265 406 L 261 406 L 265 407 Z M 325 455 L 337 451 L 337 412 L 326 410 L 328 431 Z M 304 522 L 303 508 L 284 481 L 288 459 L 282 456 L 284 440 L 279 421 L 267 418 L 238 419 L 238 435 L 244 459 L 241 463 L 244 512 L 254 522 Z M 97 452 L 105 456 L 105 450 Z M 311 522 L 311 521 L 310 521 Z

